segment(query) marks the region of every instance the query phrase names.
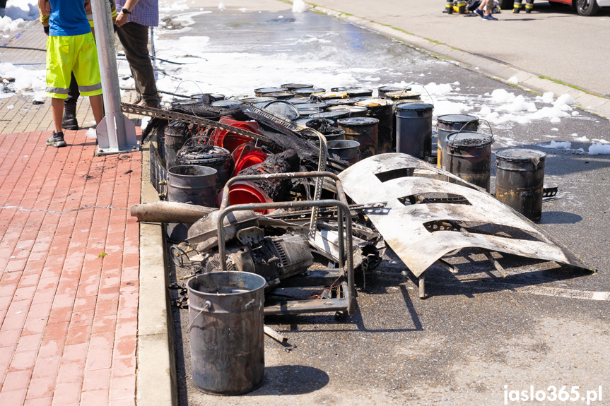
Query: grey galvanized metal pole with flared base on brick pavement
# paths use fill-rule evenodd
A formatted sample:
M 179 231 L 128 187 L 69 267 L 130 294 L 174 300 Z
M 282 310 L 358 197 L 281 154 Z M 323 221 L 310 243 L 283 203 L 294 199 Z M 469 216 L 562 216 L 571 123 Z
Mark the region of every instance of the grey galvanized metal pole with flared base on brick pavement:
M 91 0 L 95 44 L 102 78 L 105 117 L 97 128 L 98 155 L 139 150 L 136 126 L 121 112 L 121 90 L 115 53 L 115 37 L 110 17 L 110 4 L 105 0 Z

